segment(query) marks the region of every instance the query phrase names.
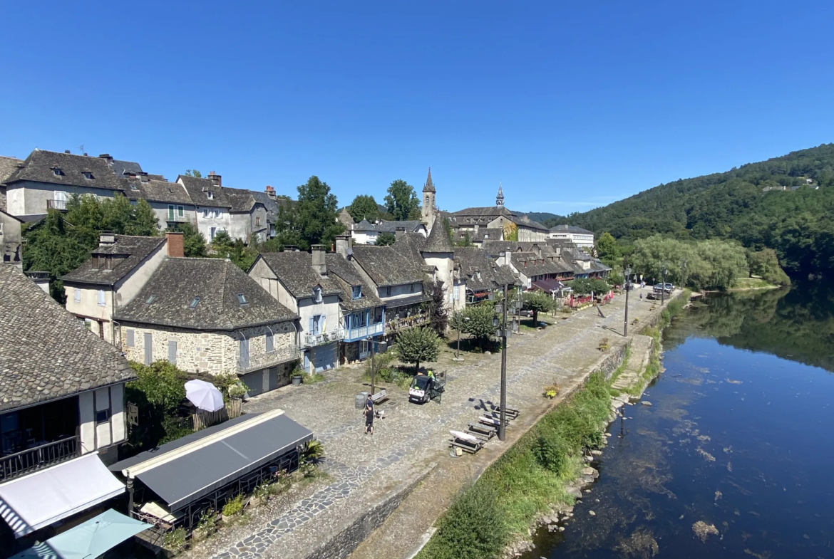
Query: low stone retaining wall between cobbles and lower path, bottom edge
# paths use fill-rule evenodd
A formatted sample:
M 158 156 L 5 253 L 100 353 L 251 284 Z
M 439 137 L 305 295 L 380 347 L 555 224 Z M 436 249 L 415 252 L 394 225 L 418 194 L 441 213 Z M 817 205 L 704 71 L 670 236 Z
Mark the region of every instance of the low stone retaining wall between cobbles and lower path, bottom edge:
M 304 559 L 344 559 L 344 557 L 348 557 L 359 547 L 361 542 L 369 537 L 371 532 L 382 526 L 382 523 L 399 507 L 399 503 L 403 502 L 414 487 L 417 487 L 436 466 L 436 463 L 431 463 L 425 472 L 422 472 L 419 476 L 410 479 L 407 483 L 400 484 L 393 491 L 385 492 L 384 496 L 378 501 L 369 503 L 367 511 L 359 517 L 352 517 L 349 522 L 334 527 L 332 535 L 323 536 L 324 543 Z M 326 530 L 326 527 L 322 528 Z M 380 550 L 379 557 L 385 557 L 383 550 Z

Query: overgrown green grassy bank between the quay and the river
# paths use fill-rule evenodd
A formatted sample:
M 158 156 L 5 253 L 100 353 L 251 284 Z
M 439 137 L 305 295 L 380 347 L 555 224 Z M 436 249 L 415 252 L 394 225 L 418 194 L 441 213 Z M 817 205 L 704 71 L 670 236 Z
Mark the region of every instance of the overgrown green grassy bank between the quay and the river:
M 652 342 L 646 367 L 636 377 L 640 391 L 660 371 L 662 328 L 688 299 L 688 292 L 681 293 L 646 326 Z M 541 417 L 455 498 L 417 559 L 514 554 L 526 546 L 536 522 L 569 518 L 580 487 L 596 475 L 585 457 L 607 443 L 603 433 L 615 417 L 612 397 L 620 394 L 611 386 L 627 366 L 623 359 L 613 373 L 593 372 L 583 387 Z

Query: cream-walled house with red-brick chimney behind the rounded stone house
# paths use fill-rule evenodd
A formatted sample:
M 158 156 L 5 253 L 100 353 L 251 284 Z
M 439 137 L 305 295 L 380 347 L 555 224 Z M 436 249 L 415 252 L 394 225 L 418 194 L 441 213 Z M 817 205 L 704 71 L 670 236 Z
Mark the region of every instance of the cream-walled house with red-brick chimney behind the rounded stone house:
M 118 345 L 113 315 L 133 301 L 165 258 L 183 257 L 183 233 L 133 237 L 102 232 L 81 266 L 61 277 L 67 310 L 98 337 Z

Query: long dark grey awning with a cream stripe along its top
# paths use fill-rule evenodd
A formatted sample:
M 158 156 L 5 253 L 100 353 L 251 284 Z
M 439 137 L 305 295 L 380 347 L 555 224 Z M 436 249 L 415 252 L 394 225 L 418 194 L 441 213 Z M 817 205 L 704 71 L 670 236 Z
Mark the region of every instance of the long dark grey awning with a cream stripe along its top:
M 110 469 L 138 478 L 173 512 L 313 439 L 309 429 L 282 410 L 245 415 L 215 427 L 224 428 L 188 435 Z

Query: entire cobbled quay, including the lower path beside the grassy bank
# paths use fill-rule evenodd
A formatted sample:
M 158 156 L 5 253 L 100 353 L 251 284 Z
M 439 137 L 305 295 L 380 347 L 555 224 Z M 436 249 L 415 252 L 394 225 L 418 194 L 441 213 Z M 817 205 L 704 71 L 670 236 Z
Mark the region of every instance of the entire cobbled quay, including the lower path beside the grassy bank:
M 385 417 L 375 422 L 373 436 L 364 435 L 363 418 L 354 407 L 356 393 L 368 389 L 361 382 L 359 369 L 340 369 L 328 382 L 315 387 L 285 387 L 253 398 L 245 411 L 281 407 L 324 442 L 324 470 L 329 480 L 276 516 L 256 515 L 255 521 L 245 526 L 228 527 L 198 543 L 187 556 L 306 559 L 324 557 L 321 549 L 334 541 L 341 549 L 329 550 L 326 556 L 348 557 L 360 542 L 345 542 L 344 534 L 357 533 L 364 543 L 354 552 L 354 559 L 408 557 L 460 487 L 480 475 L 590 372 L 612 367 L 614 357 L 621 355 L 631 340 L 622 336 L 623 306 L 624 297 L 618 296 L 601 307 L 605 317 L 595 308 L 587 308 L 564 320 L 557 318 L 556 324 L 544 331 L 510 339 L 507 402 L 519 408 L 521 416 L 508 428 L 506 442 L 494 439 L 475 457 L 450 457 L 449 431 L 465 430 L 484 409 L 497 405 L 500 355 L 467 356 L 465 363 L 448 369 L 440 404 L 410 404 L 407 392 L 386 386 L 391 401 L 379 407 Z M 654 322 L 660 310 L 656 302 L 630 297 L 630 322 L 639 321 L 630 332 Z M 599 349 L 603 338 L 610 342 L 607 352 Z M 554 382 L 562 388 L 561 395 L 546 400 L 542 388 Z M 432 462 L 436 467 L 430 468 Z M 369 530 L 350 530 L 354 523 L 366 522 L 363 519 L 368 512 L 386 502 L 397 488 L 423 476 L 423 482 L 402 496 L 387 521 L 393 525 L 390 530 L 378 530 L 370 537 L 365 537 Z M 376 524 L 382 520 L 374 515 Z

